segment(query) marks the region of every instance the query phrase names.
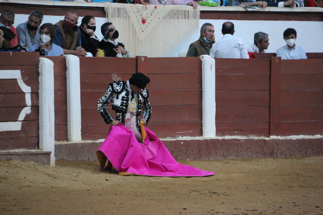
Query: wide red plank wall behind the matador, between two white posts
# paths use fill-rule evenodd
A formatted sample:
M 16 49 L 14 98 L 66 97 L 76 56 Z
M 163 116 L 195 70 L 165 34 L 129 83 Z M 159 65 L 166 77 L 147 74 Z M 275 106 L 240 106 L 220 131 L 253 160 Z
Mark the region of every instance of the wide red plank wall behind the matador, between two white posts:
M 136 71 L 151 79 L 147 85 L 153 112 L 149 129 L 158 137 L 202 135 L 199 58 L 190 62 L 185 58 L 80 58 L 80 70 L 82 140 L 106 138 L 109 125 L 99 115 L 96 104 L 109 83 L 127 80 Z M 110 104 L 108 107 L 114 115 Z

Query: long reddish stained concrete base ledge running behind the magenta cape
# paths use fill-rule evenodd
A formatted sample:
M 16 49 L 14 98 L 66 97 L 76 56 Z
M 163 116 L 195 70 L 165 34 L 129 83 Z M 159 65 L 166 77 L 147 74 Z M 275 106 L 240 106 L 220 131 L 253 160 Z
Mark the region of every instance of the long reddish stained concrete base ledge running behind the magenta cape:
M 311 157 L 323 155 L 323 138 L 216 138 L 162 140 L 175 160 Z M 57 142 L 57 160 L 97 161 L 99 142 Z

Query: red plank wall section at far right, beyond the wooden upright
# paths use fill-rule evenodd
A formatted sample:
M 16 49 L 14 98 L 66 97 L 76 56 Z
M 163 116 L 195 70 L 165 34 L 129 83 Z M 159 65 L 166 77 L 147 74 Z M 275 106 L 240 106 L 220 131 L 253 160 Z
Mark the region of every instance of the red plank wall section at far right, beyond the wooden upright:
M 281 135 L 323 134 L 323 59 L 281 61 Z

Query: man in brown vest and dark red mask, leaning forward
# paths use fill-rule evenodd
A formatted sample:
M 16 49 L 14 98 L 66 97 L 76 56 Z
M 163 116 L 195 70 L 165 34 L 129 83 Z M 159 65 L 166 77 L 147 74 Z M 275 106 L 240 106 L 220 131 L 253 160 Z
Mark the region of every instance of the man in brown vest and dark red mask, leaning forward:
M 86 51 L 81 46 L 81 32 L 77 24 L 78 13 L 68 11 L 64 20 L 54 24 L 56 34 L 53 43 L 62 47 L 64 54 L 85 56 Z

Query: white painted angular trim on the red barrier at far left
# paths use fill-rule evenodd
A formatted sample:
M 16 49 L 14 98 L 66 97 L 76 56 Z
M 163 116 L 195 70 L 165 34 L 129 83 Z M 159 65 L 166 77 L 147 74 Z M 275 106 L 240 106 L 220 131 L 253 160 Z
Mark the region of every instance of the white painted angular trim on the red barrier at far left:
M 20 70 L 1 70 L 0 79 L 17 79 L 21 90 L 25 93 L 26 106 L 19 114 L 18 121 L 23 121 L 25 116 L 31 112 L 31 87 L 22 80 Z M 22 122 L 0 122 L 0 131 L 20 131 Z

